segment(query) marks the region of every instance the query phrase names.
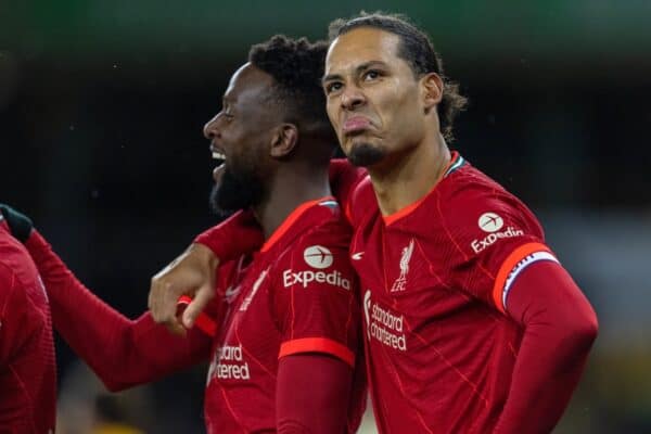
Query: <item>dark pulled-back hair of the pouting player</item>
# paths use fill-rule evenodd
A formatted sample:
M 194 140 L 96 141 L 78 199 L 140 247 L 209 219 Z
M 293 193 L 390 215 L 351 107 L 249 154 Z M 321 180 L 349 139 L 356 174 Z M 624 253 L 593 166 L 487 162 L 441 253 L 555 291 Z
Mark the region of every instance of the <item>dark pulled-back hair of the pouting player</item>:
M 434 50 L 430 37 L 400 14 L 361 12 L 349 20 L 337 18 L 330 23 L 329 36 L 332 42 L 339 36 L 358 27 L 373 27 L 397 35 L 400 38 L 398 58 L 405 60 L 417 78 L 436 73 L 443 80 L 443 99 L 437 106 L 441 131 L 446 140 L 454 140 L 455 118 L 468 104 L 468 99 L 459 93 L 459 85 L 444 74 L 441 55 Z

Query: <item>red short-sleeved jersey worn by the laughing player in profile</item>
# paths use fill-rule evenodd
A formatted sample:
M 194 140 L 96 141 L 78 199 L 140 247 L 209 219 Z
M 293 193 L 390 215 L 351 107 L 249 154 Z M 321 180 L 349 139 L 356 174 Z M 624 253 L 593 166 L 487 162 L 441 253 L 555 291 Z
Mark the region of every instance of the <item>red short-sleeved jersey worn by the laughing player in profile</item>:
M 209 433 L 276 432 L 281 357 L 323 353 L 355 366 L 360 311 L 349 241 L 339 205 L 327 197 L 296 208 L 248 263 L 220 267 L 221 321 L 205 394 Z M 349 432 L 365 405 L 363 388 L 353 395 Z

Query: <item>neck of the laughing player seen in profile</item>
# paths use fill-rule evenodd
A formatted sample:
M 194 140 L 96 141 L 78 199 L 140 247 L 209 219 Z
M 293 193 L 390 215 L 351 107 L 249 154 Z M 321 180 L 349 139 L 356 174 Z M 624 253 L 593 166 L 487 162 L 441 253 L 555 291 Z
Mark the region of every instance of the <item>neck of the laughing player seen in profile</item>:
M 306 163 L 281 163 L 267 199 L 254 207 L 254 214 L 269 239 L 297 206 L 331 195 L 328 166 L 315 167 Z

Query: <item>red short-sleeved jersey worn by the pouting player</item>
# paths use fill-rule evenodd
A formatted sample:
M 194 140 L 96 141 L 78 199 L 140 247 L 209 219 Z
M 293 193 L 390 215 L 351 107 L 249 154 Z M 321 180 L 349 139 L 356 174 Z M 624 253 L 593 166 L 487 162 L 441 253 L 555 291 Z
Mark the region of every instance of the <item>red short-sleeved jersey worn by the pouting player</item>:
M 379 431 L 493 432 L 523 335 L 509 290 L 528 265 L 556 261 L 537 219 L 458 153 L 395 215 L 381 215 L 368 178 L 352 205 Z

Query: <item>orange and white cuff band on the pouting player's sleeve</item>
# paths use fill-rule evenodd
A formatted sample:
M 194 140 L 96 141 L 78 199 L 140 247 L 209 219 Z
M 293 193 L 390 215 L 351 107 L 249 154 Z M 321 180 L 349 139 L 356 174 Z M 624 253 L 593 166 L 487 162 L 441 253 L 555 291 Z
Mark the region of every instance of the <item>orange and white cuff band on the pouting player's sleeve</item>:
M 539 260 L 559 263 L 551 250 L 542 243 L 523 244 L 503 260 L 493 286 L 493 302 L 502 314 L 506 312 L 507 296 L 518 275 Z

